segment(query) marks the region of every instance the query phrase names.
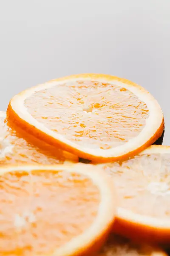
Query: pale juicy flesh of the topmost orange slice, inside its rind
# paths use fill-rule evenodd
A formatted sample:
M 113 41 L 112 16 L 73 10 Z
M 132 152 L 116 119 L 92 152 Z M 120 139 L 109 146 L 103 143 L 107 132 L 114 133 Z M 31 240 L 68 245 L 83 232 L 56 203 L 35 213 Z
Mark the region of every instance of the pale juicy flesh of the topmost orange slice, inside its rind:
M 48 129 L 83 147 L 110 149 L 137 137 L 149 111 L 129 90 L 99 81 L 70 81 L 24 102 Z

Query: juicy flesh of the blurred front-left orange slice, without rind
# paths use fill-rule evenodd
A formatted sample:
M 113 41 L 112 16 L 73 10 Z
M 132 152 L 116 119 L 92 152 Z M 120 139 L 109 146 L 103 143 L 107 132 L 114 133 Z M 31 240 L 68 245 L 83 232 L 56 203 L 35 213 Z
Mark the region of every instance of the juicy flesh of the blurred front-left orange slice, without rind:
M 32 171 L 0 177 L 0 255 L 45 255 L 93 223 L 98 188 L 83 175 Z

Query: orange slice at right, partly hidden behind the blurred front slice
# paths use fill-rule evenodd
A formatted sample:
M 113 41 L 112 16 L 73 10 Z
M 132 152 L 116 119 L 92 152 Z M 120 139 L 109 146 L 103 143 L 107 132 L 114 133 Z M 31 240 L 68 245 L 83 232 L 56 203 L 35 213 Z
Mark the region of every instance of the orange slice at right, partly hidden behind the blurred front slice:
M 153 145 L 135 157 L 99 165 L 113 177 L 119 207 L 116 233 L 170 242 L 170 147 Z

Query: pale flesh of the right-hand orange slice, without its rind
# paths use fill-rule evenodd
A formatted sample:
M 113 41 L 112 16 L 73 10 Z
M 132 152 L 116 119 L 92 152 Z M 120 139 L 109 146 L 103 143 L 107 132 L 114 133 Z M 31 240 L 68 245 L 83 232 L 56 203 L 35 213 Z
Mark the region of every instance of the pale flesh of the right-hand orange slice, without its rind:
M 170 154 L 141 154 L 103 169 L 113 177 L 119 207 L 170 219 Z

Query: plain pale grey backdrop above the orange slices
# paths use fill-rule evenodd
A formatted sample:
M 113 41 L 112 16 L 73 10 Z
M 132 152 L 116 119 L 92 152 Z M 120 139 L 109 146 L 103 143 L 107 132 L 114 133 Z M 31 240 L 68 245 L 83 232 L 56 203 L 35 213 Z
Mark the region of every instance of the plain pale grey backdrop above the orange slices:
M 76 73 L 147 88 L 170 145 L 170 0 L 0 0 L 0 110 L 27 87 Z

